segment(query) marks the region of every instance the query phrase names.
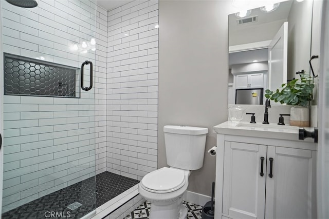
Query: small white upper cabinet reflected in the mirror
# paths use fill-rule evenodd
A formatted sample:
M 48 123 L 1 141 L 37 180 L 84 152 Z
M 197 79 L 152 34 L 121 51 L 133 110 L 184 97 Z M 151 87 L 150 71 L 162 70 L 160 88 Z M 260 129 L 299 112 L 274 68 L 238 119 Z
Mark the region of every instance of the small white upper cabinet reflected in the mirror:
M 264 73 L 238 74 L 234 79 L 235 89 L 264 87 Z

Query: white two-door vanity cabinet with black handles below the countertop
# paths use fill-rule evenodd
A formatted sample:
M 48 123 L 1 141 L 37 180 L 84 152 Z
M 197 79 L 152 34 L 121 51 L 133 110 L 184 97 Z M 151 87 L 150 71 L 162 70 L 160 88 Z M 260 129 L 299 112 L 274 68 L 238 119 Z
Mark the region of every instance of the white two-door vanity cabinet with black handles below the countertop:
M 314 143 L 217 134 L 216 156 L 215 218 L 316 218 Z

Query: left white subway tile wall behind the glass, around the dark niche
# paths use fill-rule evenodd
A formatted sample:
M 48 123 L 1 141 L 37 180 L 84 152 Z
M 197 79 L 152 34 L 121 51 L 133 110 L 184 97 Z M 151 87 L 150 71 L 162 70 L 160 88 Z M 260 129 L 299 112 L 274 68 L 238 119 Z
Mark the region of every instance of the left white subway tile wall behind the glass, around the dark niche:
M 32 9 L 5 1 L 2 6 L 4 52 L 78 68 L 89 60 L 96 69 L 94 89 L 81 91 L 79 99 L 4 96 L 6 212 L 94 176 L 95 166 L 106 170 L 107 11 L 98 8 L 96 24 L 95 0 L 40 0 Z M 96 55 L 90 42 L 95 25 Z M 86 48 L 78 46 L 83 42 Z

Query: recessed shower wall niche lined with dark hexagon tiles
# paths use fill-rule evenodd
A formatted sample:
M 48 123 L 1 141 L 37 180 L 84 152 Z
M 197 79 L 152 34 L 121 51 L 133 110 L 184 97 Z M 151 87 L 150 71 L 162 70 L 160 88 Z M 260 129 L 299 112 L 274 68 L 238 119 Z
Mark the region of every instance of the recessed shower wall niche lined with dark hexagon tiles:
M 79 97 L 79 68 L 4 53 L 6 95 Z

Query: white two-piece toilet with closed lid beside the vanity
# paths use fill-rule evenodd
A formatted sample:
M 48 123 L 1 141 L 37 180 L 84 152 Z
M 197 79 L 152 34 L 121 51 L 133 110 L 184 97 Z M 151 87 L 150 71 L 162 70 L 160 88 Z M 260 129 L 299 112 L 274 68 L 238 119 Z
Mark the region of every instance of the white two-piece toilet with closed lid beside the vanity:
M 182 219 L 187 208 L 182 205 L 191 170 L 204 162 L 208 128 L 191 126 L 163 127 L 167 164 L 145 175 L 138 185 L 141 196 L 151 202 L 150 219 Z

